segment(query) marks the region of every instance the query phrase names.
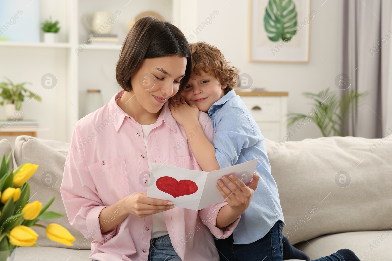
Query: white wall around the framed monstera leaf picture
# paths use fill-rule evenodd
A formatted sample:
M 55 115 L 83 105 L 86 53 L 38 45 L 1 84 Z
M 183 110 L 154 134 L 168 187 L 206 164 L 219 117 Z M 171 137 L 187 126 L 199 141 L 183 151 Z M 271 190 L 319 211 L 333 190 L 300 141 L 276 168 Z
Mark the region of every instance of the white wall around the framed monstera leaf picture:
M 267 2 L 267 0 L 265 0 Z M 341 73 L 341 11 L 340 0 L 311 1 L 311 10 L 317 14 L 310 25 L 309 63 L 265 63 L 249 62 L 249 1 L 244 0 L 198 0 L 196 21 L 187 28 L 187 37 L 196 36 L 196 29 L 217 10 L 218 15 L 192 41 L 206 41 L 218 47 L 225 58 L 236 66 L 240 73 L 250 74 L 253 86 L 265 87 L 269 91 L 289 92 L 288 110 L 307 113 L 311 110 L 303 92 L 320 92 L 331 87 L 338 93 L 335 77 Z M 301 18 L 298 18 L 302 20 Z M 260 67 L 260 69 L 258 69 Z M 309 122 L 290 140 L 322 137 L 318 127 Z

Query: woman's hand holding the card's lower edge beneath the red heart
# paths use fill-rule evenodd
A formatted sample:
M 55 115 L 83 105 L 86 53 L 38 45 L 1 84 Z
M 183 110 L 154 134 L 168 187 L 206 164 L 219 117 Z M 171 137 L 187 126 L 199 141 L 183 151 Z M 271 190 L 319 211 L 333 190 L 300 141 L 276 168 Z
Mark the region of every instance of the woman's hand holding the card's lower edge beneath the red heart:
M 174 208 L 173 203 L 169 200 L 147 198 L 146 194 L 144 192 L 135 192 L 123 198 L 125 211 L 139 218 L 144 218 Z

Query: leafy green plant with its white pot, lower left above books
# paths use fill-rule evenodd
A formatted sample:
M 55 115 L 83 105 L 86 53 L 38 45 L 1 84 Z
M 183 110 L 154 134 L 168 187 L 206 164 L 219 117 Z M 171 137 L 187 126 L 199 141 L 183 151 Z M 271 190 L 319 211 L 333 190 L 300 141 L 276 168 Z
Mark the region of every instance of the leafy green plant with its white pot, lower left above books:
M 21 108 L 24 97 L 34 98 L 37 101 L 41 101 L 41 97 L 24 88 L 27 82 L 15 85 L 7 77 L 4 78 L 7 79 L 7 82 L 0 83 L 0 96 L 3 98 L 0 105 L 4 105 L 5 103 L 5 117 L 7 119 L 21 120 L 23 117 L 23 110 Z M 31 85 L 31 83 L 28 84 Z

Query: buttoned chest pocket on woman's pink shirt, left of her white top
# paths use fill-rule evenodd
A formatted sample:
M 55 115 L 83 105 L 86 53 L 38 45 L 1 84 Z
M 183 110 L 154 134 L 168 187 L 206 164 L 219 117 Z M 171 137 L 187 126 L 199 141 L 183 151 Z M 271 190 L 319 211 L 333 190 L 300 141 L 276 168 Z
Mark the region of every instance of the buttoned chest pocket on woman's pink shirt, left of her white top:
M 87 167 L 105 205 L 112 205 L 130 194 L 124 156 L 106 158 Z

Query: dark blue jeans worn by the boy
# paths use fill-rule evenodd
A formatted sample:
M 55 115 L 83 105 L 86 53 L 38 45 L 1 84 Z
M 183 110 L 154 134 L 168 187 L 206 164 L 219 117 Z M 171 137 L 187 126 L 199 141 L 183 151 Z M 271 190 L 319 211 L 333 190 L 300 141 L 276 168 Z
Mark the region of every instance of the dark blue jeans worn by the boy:
M 250 244 L 234 244 L 233 235 L 215 240 L 220 261 L 283 261 L 283 222 L 279 220 L 263 238 Z M 316 261 L 344 261 L 338 253 L 314 259 Z

